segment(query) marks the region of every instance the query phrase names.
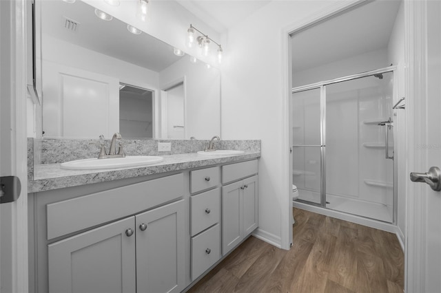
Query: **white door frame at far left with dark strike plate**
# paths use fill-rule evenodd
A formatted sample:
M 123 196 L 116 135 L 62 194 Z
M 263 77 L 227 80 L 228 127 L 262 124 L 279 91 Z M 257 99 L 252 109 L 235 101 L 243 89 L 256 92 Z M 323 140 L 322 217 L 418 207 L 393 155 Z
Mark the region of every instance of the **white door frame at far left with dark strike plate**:
M 1 292 L 28 292 L 27 1 L 0 1 L 0 172 L 21 181 L 19 199 L 0 206 Z

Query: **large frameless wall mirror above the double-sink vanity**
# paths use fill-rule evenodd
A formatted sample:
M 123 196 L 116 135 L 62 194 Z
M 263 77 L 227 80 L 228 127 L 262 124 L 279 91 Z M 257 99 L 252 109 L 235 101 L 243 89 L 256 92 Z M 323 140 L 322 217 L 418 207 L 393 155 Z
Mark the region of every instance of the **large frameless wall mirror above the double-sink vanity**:
M 83 1 L 37 1 L 44 138 L 209 139 L 220 72 Z M 111 16 L 109 16 L 111 18 Z

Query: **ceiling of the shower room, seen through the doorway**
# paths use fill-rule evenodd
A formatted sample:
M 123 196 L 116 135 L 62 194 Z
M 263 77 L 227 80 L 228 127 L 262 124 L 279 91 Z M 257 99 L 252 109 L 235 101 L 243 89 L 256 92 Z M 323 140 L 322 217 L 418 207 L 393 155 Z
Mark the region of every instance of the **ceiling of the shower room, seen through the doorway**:
M 368 2 L 294 34 L 291 37 L 293 71 L 386 48 L 401 2 Z

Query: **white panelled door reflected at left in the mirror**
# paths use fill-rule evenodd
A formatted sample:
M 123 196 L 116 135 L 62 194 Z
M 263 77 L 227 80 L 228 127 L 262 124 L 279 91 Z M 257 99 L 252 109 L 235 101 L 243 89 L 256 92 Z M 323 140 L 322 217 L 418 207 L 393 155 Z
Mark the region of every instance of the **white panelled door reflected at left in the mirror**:
M 43 61 L 47 137 L 111 138 L 119 132 L 119 79 Z

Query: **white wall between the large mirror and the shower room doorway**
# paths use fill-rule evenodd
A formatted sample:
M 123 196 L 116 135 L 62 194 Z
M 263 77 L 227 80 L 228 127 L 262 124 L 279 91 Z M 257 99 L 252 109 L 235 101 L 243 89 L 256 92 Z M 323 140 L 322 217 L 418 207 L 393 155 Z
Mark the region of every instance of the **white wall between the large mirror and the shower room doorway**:
M 287 247 L 286 91 L 283 31 L 338 1 L 272 1 L 229 30 L 222 71 L 223 139 L 260 139 L 259 229 Z M 350 1 L 345 1 L 350 3 Z M 283 63 L 285 62 L 285 63 Z M 284 118 L 285 117 L 285 118 Z M 286 155 L 284 155 L 286 154 Z M 284 230 L 282 230 L 284 229 Z M 282 242 L 283 241 L 283 242 Z

